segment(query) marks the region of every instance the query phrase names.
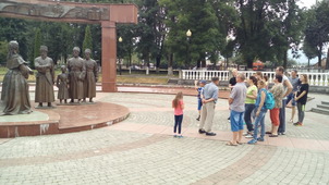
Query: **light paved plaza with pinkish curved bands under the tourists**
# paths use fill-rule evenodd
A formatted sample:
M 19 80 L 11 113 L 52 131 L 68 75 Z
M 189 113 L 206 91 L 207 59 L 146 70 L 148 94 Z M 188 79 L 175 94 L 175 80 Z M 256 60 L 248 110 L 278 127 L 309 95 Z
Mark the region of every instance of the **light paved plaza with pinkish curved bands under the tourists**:
M 306 112 L 304 126 L 288 123 L 284 136 L 232 147 L 226 99 L 209 137 L 197 133 L 196 97 L 185 96 L 184 137 L 173 138 L 173 98 L 98 92 L 130 116 L 87 132 L 0 139 L 0 184 L 329 184 L 328 115 Z

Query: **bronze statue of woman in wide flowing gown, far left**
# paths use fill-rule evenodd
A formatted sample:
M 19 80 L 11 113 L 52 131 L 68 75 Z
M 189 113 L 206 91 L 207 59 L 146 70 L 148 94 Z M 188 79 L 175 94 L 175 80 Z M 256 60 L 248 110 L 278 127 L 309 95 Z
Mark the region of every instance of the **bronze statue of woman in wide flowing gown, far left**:
M 19 42 L 9 42 L 7 67 L 1 92 L 1 113 L 4 115 L 31 113 L 28 95 L 28 74 L 33 71 L 26 65 L 19 52 Z

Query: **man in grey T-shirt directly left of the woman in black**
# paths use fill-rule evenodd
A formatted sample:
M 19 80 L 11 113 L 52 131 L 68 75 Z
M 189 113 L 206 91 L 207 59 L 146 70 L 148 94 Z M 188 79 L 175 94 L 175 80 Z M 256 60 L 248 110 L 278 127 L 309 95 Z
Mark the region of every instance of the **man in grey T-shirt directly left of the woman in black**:
M 298 85 L 301 84 L 296 70 L 291 71 L 291 76 L 289 77 L 289 81 L 292 85 L 292 91 L 287 97 L 287 104 L 291 101 L 292 112 L 291 112 L 290 122 L 293 123 L 293 119 L 296 112 L 295 92 L 298 90 Z

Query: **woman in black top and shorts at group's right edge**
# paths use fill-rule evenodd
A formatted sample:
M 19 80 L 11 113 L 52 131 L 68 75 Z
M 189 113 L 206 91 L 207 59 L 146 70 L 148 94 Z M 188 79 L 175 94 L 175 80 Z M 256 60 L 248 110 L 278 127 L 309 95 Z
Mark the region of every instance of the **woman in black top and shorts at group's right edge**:
M 298 109 L 298 122 L 294 123 L 295 126 L 303 126 L 303 120 L 305 116 L 305 104 L 308 94 L 308 79 L 306 74 L 302 74 L 300 77 L 302 84 L 298 86 L 298 90 L 295 94 L 295 100 L 297 101 Z

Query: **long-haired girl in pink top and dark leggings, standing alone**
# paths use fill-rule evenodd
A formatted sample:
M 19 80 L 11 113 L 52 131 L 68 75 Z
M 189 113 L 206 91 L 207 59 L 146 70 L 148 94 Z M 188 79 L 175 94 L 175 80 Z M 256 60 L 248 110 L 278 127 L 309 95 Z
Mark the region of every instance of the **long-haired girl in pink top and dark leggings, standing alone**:
M 181 134 L 182 131 L 182 122 L 183 122 L 183 92 L 180 91 L 172 100 L 172 108 L 174 109 L 174 126 L 173 126 L 173 137 L 183 137 Z M 179 136 L 176 135 L 176 130 L 179 127 Z

